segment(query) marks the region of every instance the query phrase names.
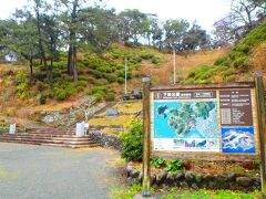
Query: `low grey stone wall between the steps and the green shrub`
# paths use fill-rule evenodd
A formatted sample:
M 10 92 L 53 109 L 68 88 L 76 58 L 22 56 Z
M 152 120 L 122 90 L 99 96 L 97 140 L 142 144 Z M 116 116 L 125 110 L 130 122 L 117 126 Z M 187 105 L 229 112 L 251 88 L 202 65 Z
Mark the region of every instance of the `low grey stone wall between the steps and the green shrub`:
M 102 147 L 113 148 L 117 150 L 121 149 L 121 142 L 116 135 L 90 132 L 89 136 Z

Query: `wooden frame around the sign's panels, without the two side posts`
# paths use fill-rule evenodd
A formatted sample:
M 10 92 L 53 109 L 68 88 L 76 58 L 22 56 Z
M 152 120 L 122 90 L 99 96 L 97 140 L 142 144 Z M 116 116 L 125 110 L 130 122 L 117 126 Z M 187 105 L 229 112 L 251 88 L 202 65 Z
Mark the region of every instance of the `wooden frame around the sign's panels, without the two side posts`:
M 254 160 L 258 158 L 259 155 L 259 135 L 258 135 L 258 123 L 257 123 L 257 109 L 256 109 L 256 94 L 255 94 L 255 83 L 254 82 L 242 82 L 242 83 L 212 83 L 212 84 L 176 84 L 173 86 L 153 86 L 150 88 L 151 93 L 150 93 L 150 101 L 151 101 L 151 151 L 152 151 L 152 156 L 156 156 L 156 157 L 163 157 L 163 158 L 180 158 L 180 159 L 200 159 L 200 160 Z M 222 106 L 222 102 L 221 102 L 221 93 L 225 92 L 225 93 L 238 93 L 238 92 L 249 92 L 250 93 L 250 102 L 246 102 L 250 104 L 250 114 L 252 114 L 252 119 L 253 121 L 253 127 L 254 127 L 254 139 L 255 139 L 255 153 L 223 153 L 222 151 L 222 124 L 221 124 L 221 106 Z M 182 149 L 183 151 L 177 150 L 156 150 L 155 149 L 155 138 L 154 138 L 154 103 L 158 103 L 160 101 L 155 100 L 155 95 L 163 93 L 164 95 L 166 95 L 165 98 L 167 100 L 162 100 L 162 103 L 167 103 L 167 102 L 178 102 L 178 103 L 183 103 L 183 102 L 206 102 L 206 101 L 213 101 L 217 104 L 217 127 L 218 127 L 218 143 L 219 143 L 219 148 L 218 151 L 216 149 L 216 151 L 212 151 L 209 149 L 206 149 L 205 151 L 201 151 L 200 150 L 191 150 L 191 151 L 185 151 L 185 149 Z M 167 95 L 170 96 L 171 94 L 175 95 L 174 93 L 177 93 L 178 95 L 184 94 L 184 97 L 178 96 L 178 97 L 167 97 Z M 213 95 L 215 95 L 213 98 L 209 98 L 208 96 L 206 96 L 204 98 L 204 96 L 200 96 L 202 95 L 201 93 L 214 93 Z M 198 98 L 193 98 L 193 95 L 198 95 Z M 188 97 L 186 97 L 185 95 L 188 95 Z M 235 97 L 237 95 L 232 95 L 232 97 Z M 241 95 L 239 95 L 241 96 Z M 176 100 L 177 98 L 177 100 Z M 233 98 L 229 98 L 229 101 L 234 101 Z M 242 103 L 242 98 L 238 100 L 239 103 L 238 104 L 244 104 L 245 102 Z M 248 101 L 248 100 L 243 100 L 243 101 Z M 243 105 L 243 107 L 244 107 Z M 241 106 L 241 105 L 239 105 Z M 236 107 L 237 108 L 237 107 Z M 235 108 L 234 108 L 235 109 Z M 238 108 L 239 109 L 239 108 Z M 241 111 L 239 111 L 241 112 Z M 248 114 L 248 113 L 236 113 L 236 117 L 239 114 Z M 242 116 L 242 119 L 245 119 L 248 115 Z M 234 118 L 232 118 L 234 119 Z M 236 118 L 237 119 L 237 118 Z M 244 122 L 239 122 L 243 123 Z M 246 123 L 248 123 L 248 119 L 246 119 Z M 245 124 L 244 124 L 245 125 Z M 224 125 L 227 126 L 228 125 Z M 223 126 L 223 127 L 224 127 Z M 243 125 L 234 125 L 234 126 L 243 126 Z M 250 124 L 245 125 L 245 126 L 250 126 Z M 160 139 L 158 139 L 160 140 Z M 164 139 L 162 139 L 163 142 Z M 158 144 L 160 145 L 160 144 Z M 162 144 L 163 145 L 163 144 Z

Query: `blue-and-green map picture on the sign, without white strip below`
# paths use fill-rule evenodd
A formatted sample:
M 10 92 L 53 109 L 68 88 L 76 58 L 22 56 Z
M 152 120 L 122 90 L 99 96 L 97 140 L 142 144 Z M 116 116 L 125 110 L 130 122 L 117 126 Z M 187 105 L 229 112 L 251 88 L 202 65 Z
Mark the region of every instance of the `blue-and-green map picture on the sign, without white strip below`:
M 218 138 L 215 102 L 155 102 L 154 138 Z

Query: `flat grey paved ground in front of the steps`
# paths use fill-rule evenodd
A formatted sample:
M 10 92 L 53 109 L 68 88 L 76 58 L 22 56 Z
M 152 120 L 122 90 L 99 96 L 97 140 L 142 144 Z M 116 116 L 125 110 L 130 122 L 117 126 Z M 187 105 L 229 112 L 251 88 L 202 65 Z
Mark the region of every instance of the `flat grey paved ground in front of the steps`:
M 105 199 L 114 150 L 0 144 L 1 199 Z

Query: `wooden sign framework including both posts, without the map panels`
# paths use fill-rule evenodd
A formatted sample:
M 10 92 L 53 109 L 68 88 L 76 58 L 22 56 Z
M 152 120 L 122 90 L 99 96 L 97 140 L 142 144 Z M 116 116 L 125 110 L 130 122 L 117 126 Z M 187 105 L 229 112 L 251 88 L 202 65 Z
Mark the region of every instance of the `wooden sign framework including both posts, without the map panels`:
M 156 156 L 161 158 L 181 158 L 181 159 L 201 159 L 201 160 L 260 160 L 260 179 L 262 179 L 262 191 L 266 196 L 266 157 L 265 157 L 265 103 L 264 103 L 264 84 L 262 74 L 257 73 L 254 75 L 255 82 L 236 82 L 236 83 L 208 83 L 208 84 L 176 84 L 172 86 L 150 86 L 150 80 L 143 81 L 143 197 L 151 196 L 151 170 L 150 170 L 150 157 Z M 207 92 L 206 92 L 207 91 Z M 215 94 L 209 95 L 209 91 L 215 91 Z M 228 94 L 234 92 L 239 94 Z M 249 95 L 247 95 L 249 91 Z M 161 92 L 161 93 L 160 93 Z M 182 95 L 182 92 L 183 95 Z M 197 93 L 195 93 L 197 92 Z M 162 94 L 163 93 L 163 94 Z M 194 95 L 194 97 L 193 97 Z M 215 95 L 215 96 L 214 96 Z M 231 122 L 232 126 L 246 126 L 247 124 L 253 127 L 255 151 L 253 153 L 225 153 L 222 149 L 222 126 L 226 123 L 225 119 L 217 118 L 218 123 L 218 136 L 219 136 L 219 150 L 218 151 L 176 151 L 165 150 L 160 148 L 160 145 L 154 145 L 154 102 L 157 100 L 176 101 L 180 104 L 183 102 L 190 102 L 195 100 L 195 96 L 200 96 L 202 102 L 207 102 L 206 98 L 209 96 L 217 103 L 217 116 L 221 115 L 221 107 L 229 106 L 233 109 L 233 103 L 226 104 L 225 102 L 229 98 L 234 102 L 234 108 Z M 227 97 L 227 98 L 226 98 Z M 248 100 L 249 97 L 249 100 Z M 215 98 L 215 100 L 214 100 Z M 222 100 L 221 100 L 222 98 Z M 236 100 L 236 101 L 234 101 Z M 195 100 L 196 101 L 196 100 Z M 200 102 L 200 101 L 198 101 Z M 238 104 L 237 104 L 238 103 Z M 248 104 L 249 103 L 249 104 Z M 200 103 L 201 104 L 201 103 Z M 250 113 L 248 112 L 250 106 Z M 164 109 L 160 111 L 160 114 L 164 113 Z M 247 114 L 247 115 L 245 115 Z M 245 116 L 252 115 L 252 123 L 245 118 Z M 238 117 L 238 116 L 239 117 Z M 166 116 L 165 116 L 166 117 Z M 168 123 L 170 124 L 170 123 Z M 252 134 L 252 132 L 250 132 Z M 227 134 L 226 134 L 227 135 Z M 156 135 L 157 136 L 157 135 Z M 157 137 L 156 137 L 157 138 Z M 163 146 L 163 145 L 162 145 Z M 164 147 L 164 146 L 163 146 Z M 167 148 L 167 147 L 166 147 Z

